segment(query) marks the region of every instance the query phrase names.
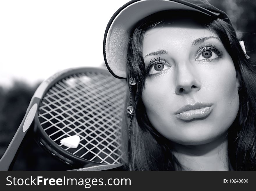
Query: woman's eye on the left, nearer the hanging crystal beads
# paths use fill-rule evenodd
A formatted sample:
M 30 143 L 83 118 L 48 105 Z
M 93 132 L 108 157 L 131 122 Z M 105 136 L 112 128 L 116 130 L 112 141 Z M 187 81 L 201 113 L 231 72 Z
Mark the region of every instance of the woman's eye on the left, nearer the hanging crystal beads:
M 147 67 L 147 74 L 157 74 L 163 70 L 169 69 L 170 66 L 166 62 L 166 60 L 161 60 L 160 58 L 157 58 L 155 60 L 151 60 L 150 65 Z

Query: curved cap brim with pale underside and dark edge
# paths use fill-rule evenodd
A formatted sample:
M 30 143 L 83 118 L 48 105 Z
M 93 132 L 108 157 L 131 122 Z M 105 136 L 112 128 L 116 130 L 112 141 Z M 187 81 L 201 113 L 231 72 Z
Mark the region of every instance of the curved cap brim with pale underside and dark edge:
M 141 19 L 163 10 L 192 10 L 209 16 L 219 15 L 182 0 L 135 0 L 126 3 L 112 16 L 104 35 L 104 60 L 114 77 L 127 78 L 127 45 L 134 25 Z

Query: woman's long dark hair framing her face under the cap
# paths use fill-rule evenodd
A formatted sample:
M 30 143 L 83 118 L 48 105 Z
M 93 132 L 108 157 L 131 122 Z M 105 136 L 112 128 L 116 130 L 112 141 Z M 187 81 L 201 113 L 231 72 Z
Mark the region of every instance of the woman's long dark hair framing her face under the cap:
M 134 27 L 127 51 L 127 79 L 136 78 L 137 84 L 131 86 L 134 115 L 125 113 L 122 126 L 123 163 L 129 170 L 181 170 L 182 165 L 173 155 L 171 141 L 163 137 L 150 123 L 141 95 L 145 84 L 145 65 L 142 44 L 145 31 L 167 18 L 191 18 L 214 32 L 221 39 L 230 54 L 240 79 L 239 112 L 228 130 L 228 156 L 234 170 L 256 169 L 256 67 L 246 59 L 239 39 L 232 25 L 221 19 L 212 19 L 202 13 L 191 11 L 162 11 L 146 17 Z M 200 18 L 200 19 L 198 19 Z M 127 103 L 130 104 L 129 89 Z M 129 129 L 130 128 L 130 129 Z

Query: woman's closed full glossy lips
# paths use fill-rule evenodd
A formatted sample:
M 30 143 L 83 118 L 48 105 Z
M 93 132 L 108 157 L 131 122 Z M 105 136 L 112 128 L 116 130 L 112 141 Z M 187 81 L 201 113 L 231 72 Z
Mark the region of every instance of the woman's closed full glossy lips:
M 182 120 L 191 120 L 194 118 L 207 117 L 212 110 L 212 104 L 197 102 L 194 105 L 183 106 L 175 112 L 175 115 Z

